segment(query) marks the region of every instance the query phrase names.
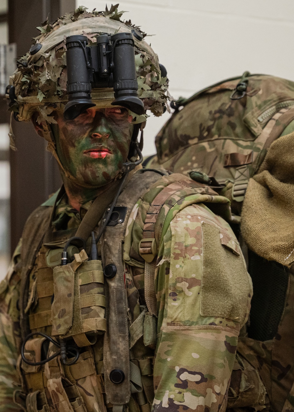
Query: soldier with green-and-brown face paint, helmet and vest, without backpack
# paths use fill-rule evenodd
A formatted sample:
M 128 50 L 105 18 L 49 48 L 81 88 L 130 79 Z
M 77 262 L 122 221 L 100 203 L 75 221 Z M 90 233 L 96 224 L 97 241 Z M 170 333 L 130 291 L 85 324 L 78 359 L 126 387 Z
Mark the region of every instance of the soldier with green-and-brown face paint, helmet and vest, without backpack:
M 0 285 L 1 411 L 226 408 L 250 277 L 210 210 L 232 219 L 228 199 L 142 169 L 138 131 L 168 80 L 120 17 L 79 7 L 45 22 L 7 89 L 63 187 L 28 218 Z

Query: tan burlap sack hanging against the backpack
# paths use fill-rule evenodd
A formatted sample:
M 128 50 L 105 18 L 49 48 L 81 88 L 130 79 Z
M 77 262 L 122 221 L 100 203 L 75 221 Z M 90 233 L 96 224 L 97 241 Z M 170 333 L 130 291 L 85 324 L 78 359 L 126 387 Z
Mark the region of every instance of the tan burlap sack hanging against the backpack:
M 263 258 L 287 267 L 294 262 L 294 133 L 272 143 L 249 180 L 241 231 L 248 247 Z

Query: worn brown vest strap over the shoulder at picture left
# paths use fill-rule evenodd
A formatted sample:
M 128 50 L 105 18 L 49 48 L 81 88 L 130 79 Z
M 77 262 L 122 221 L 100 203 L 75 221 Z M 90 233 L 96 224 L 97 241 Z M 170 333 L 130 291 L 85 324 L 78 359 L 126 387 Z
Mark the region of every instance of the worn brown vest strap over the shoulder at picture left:
M 37 252 L 48 229 L 53 208 L 40 206 L 29 216 L 23 229 L 21 246 L 21 291 L 19 298 L 21 337 L 30 333 L 28 314 L 25 308 L 28 301 L 29 273 L 33 268 Z

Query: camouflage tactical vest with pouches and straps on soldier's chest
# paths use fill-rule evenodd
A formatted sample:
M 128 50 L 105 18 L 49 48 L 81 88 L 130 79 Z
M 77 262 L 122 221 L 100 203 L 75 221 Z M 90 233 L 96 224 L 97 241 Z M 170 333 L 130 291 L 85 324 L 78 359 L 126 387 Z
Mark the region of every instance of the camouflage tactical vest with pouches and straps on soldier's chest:
M 182 175 L 138 171 L 121 192 L 98 243 L 103 268 L 114 267 L 114 276 L 107 275 L 105 270 L 103 276 L 102 270 L 93 269 L 93 261 L 86 261 L 89 239 L 86 252 L 79 253 L 75 246 L 68 250 L 75 259 L 70 263 L 71 280 L 64 279 L 63 288 L 58 280 L 58 265 L 61 251 L 75 230 L 52 232 L 52 207 L 41 206 L 33 212 L 23 231 L 21 252 L 22 339 L 35 331 L 51 336 L 59 330 L 59 335 L 68 336 L 76 328 L 72 335 L 80 347 L 80 355 L 72 365 L 63 364 L 61 355 L 45 365 L 28 365 L 19 357 L 17 368 L 22 391 L 16 391 L 16 403 L 21 405 L 25 399 L 28 412 L 106 412 L 109 408 L 119 412 L 126 405 L 130 411 L 151 410 L 157 341 L 154 290 L 157 250 L 178 211 L 193 203 L 213 204 L 216 197 L 210 187 Z M 138 199 L 142 201 L 134 215 Z M 218 202 L 228 206 L 227 199 L 219 199 Z M 136 216 L 140 221 L 140 236 L 130 242 L 126 229 L 131 230 Z M 67 286 L 70 281 L 71 289 Z M 56 312 L 56 305 L 65 301 L 72 302 L 71 309 L 67 304 L 66 311 L 61 306 Z M 93 318 L 100 321 L 95 323 Z M 94 323 L 101 333 L 91 340 L 88 332 L 93 330 Z M 58 347 L 37 336 L 27 341 L 24 355 L 36 363 L 57 351 Z

